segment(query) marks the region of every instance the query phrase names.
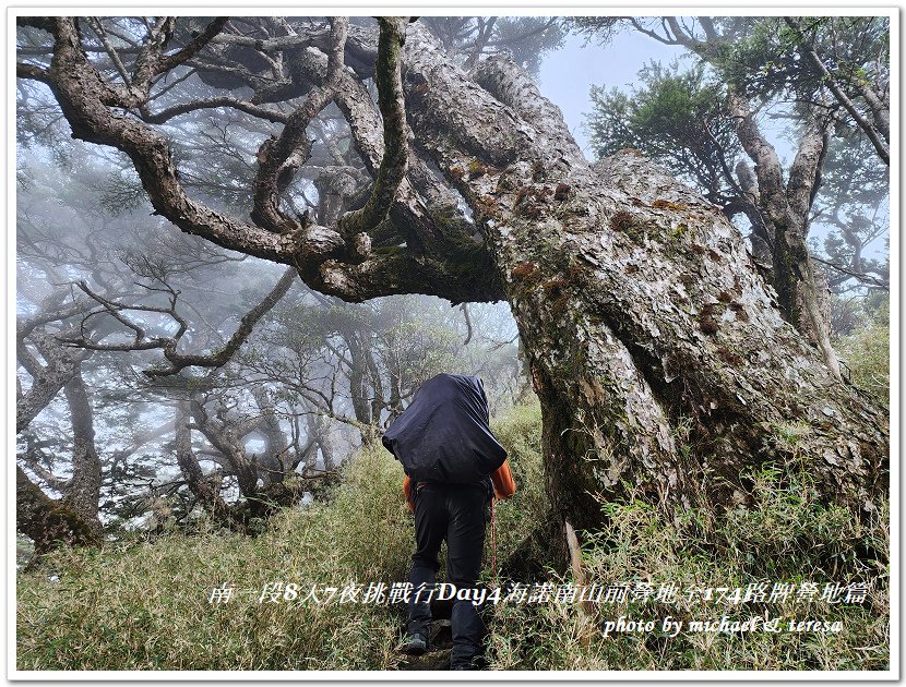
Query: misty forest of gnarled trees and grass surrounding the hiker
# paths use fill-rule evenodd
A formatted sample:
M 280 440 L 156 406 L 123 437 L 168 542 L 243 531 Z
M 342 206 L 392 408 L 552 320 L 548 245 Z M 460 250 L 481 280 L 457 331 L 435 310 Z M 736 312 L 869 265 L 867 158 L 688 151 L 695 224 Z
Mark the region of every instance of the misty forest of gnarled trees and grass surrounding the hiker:
M 618 44 L 678 57 L 615 85 Z M 540 73 L 592 49 L 580 140 Z M 443 667 L 440 606 L 413 659 L 404 606 L 265 591 L 405 580 L 380 438 L 450 372 L 517 484 L 482 583 L 632 592 L 489 604 L 487 668 L 890 670 L 890 52 L 887 16 L 17 16 L 16 668 Z

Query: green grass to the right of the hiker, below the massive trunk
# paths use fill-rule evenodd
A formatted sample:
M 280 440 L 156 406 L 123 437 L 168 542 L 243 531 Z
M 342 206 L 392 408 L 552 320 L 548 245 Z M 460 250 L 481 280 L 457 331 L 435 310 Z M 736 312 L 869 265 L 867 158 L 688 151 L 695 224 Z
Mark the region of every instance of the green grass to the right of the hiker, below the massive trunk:
M 586 583 L 675 582 L 669 602 L 634 600 L 599 606 L 591 616 L 577 605 L 506 604 L 496 608 L 490 651 L 498 670 L 884 670 L 889 666 L 890 599 L 887 508 L 872 522 L 859 522 L 810 496 L 807 477 L 789 481 L 766 467 L 750 475 L 755 503 L 749 509 L 715 515 L 706 507 L 677 509 L 665 517 L 635 498 L 604 504 L 609 516 L 598 532 L 585 532 Z M 881 561 L 860 562 L 857 546 Z M 556 583 L 570 578 L 551 577 Z M 800 583 L 860 580 L 870 583 L 865 604 L 828 603 L 820 593 L 784 603 L 730 604 L 692 601 L 691 588 L 747 588 L 760 581 Z M 771 584 L 768 584 L 768 590 Z M 601 624 L 628 619 L 746 620 L 765 613 L 787 618 L 841 620 L 839 634 L 681 631 L 669 637 L 660 623 L 652 632 L 611 634 Z M 785 622 L 788 625 L 788 619 Z M 785 627 L 786 627 L 785 625 Z

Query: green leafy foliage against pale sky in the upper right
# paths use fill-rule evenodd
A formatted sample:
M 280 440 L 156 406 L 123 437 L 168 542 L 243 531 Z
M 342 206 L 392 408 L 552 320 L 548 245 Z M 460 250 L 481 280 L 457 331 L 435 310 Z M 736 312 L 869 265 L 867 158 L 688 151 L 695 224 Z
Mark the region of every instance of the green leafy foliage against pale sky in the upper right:
M 734 177 L 741 149 L 727 112 L 727 86 L 749 99 L 761 114 L 764 133 L 777 128 L 767 116 L 788 122 L 782 126 L 794 142 L 815 123 L 823 125 L 814 112 L 835 101 L 831 81 L 873 121 L 863 87 L 882 103 L 889 93 L 889 24 L 884 16 L 700 16 L 677 24 L 659 17 L 571 20 L 574 31 L 605 43 L 618 27 L 631 25 L 663 43 L 678 40 L 696 60 L 684 73 L 676 65 L 652 65 L 640 73 L 642 85 L 629 93 L 593 89 L 588 126 L 595 152 L 605 156 L 625 146 L 637 148 L 693 183 L 712 203 L 739 213 L 746 195 Z M 830 77 L 812 63 L 811 50 Z M 780 157 L 783 147 L 777 145 Z M 831 289 L 885 286 L 890 268 L 883 252 L 873 256 L 873 242 L 889 231 L 889 169 L 842 108 L 820 180 L 810 215 L 813 225 L 824 225 L 820 231 L 826 236 L 823 246 L 815 242 L 815 252 L 823 248 L 828 262 L 842 266 L 826 268 Z

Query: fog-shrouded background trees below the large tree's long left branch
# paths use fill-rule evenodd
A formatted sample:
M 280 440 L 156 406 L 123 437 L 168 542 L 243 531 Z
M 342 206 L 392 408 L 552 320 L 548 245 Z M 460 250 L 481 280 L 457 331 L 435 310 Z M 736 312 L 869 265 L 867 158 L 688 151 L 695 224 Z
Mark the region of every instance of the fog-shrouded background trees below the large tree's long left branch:
M 110 172 L 85 150 L 72 183 L 57 173 L 71 172 L 67 145 L 52 165 L 43 144 L 33 149 L 20 160 L 31 179 L 19 207 L 20 304 L 34 316 L 21 318 L 19 332 L 19 460 L 20 520 L 39 554 L 52 540 L 97 543 L 100 515 L 116 527 L 151 511 L 146 522 L 160 526 L 206 511 L 236 529 L 254 527 L 336 479 L 348 455 L 337 456 L 337 422 L 373 441 L 420 382 L 456 369 L 460 311 L 446 306 L 444 318 L 416 298 L 380 305 L 308 290 L 286 298 L 295 270 L 282 278 L 261 264 L 239 270 L 241 256 L 156 227 L 128 169 Z M 227 275 L 235 286 L 219 296 L 210 280 Z M 317 355 L 297 355 L 303 349 Z M 39 351 L 50 366 L 40 367 Z M 41 487 L 63 501 L 51 508 Z M 53 525 L 65 504 L 70 520 L 79 525 L 83 514 L 87 523 L 69 539 Z M 90 531 L 94 538 L 81 537 Z

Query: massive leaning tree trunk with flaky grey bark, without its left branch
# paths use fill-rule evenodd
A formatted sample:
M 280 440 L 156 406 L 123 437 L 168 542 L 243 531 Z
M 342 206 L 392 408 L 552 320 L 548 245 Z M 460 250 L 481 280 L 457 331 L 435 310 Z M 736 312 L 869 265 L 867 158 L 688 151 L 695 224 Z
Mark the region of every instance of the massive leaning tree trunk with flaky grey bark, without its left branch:
M 887 419 L 780 316 L 719 208 L 633 150 L 592 169 L 524 73 L 484 62 L 485 92 L 426 44 L 407 45 L 410 122 L 492 246 L 557 510 L 594 526 L 598 499 L 627 487 L 744 504 L 741 473 L 766 461 L 804 466 L 826 498 L 871 510 L 889 489 Z

